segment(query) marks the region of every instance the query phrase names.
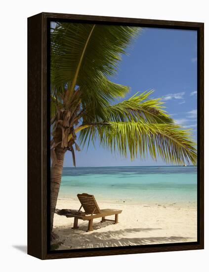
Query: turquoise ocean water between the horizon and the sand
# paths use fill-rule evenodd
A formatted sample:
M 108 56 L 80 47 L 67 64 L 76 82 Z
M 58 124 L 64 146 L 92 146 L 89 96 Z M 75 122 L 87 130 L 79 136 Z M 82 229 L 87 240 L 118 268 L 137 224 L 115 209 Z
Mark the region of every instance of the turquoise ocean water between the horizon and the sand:
M 197 202 L 197 167 L 65 167 L 59 198 L 93 194 L 99 201 Z

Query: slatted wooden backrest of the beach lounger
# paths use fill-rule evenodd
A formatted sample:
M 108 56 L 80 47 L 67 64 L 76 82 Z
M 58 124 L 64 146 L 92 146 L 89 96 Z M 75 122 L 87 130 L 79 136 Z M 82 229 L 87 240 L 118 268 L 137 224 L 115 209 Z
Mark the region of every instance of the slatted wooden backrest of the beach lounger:
M 92 194 L 77 194 L 86 214 L 100 214 L 100 209 Z

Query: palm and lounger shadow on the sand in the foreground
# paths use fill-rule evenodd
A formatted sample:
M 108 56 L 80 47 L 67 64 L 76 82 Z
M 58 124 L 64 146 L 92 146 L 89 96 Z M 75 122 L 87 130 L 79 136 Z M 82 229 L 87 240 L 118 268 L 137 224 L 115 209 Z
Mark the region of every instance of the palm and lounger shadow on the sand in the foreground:
M 112 223 L 95 223 L 94 230 L 107 227 Z M 131 245 L 147 245 L 161 243 L 187 242 L 192 237 L 183 236 L 154 236 L 152 231 L 161 230 L 162 228 L 126 228 L 119 230 L 103 231 L 103 232 L 85 232 L 87 226 L 82 225 L 79 229 L 71 228 L 55 228 L 54 230 L 63 239 L 63 245 L 59 249 L 74 248 L 97 248 L 97 247 L 115 247 L 115 246 L 131 246 Z M 163 229 L 162 229 L 163 230 Z M 139 232 L 141 232 L 139 234 Z M 143 233 L 150 235 L 143 235 Z M 134 235 L 135 233 L 135 235 Z M 154 233 L 153 233 L 154 234 Z M 129 236 L 129 237 L 127 237 Z M 135 237 L 134 237 L 135 236 Z M 141 237 L 140 237 L 141 236 Z M 143 236 L 143 237 L 142 237 Z

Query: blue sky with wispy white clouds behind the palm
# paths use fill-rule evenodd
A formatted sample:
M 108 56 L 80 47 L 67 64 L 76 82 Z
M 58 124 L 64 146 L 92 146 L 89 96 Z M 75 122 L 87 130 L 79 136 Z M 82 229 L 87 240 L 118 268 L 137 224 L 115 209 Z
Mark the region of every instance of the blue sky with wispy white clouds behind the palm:
M 130 45 L 128 55 L 122 56 L 118 74 L 113 82 L 129 86 L 130 92 L 154 89 L 153 97 L 162 97 L 167 112 L 176 123 L 197 134 L 197 32 L 144 28 L 142 34 Z M 118 102 L 118 101 L 116 101 Z M 153 161 L 130 161 L 111 154 L 96 142 L 80 152 L 76 151 L 78 167 L 89 166 L 152 166 L 166 165 L 160 158 Z M 71 152 L 67 152 L 64 167 L 72 167 Z

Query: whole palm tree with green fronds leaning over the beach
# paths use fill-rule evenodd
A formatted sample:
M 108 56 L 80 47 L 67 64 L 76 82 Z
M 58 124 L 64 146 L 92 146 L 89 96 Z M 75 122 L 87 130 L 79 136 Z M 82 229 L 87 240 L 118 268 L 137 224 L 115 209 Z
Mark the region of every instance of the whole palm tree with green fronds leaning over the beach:
M 141 28 L 82 23 L 56 23 L 51 30 L 51 230 L 63 160 L 86 142 L 131 159 L 159 156 L 167 163 L 196 163 L 196 144 L 176 125 L 163 102 L 148 99 L 153 91 L 124 97 L 129 88 L 108 80 L 121 55 Z M 78 142 L 77 142 L 77 136 Z

